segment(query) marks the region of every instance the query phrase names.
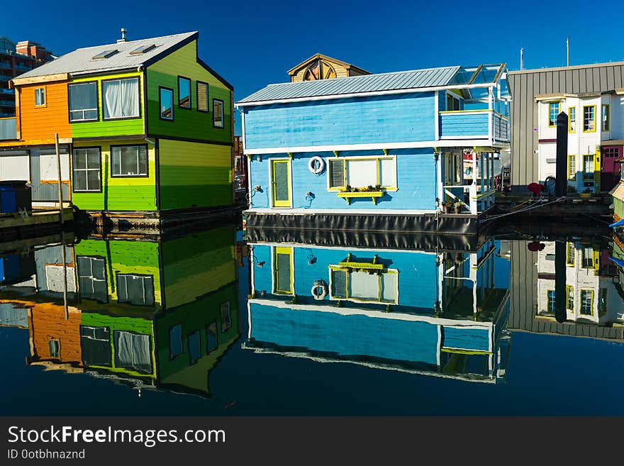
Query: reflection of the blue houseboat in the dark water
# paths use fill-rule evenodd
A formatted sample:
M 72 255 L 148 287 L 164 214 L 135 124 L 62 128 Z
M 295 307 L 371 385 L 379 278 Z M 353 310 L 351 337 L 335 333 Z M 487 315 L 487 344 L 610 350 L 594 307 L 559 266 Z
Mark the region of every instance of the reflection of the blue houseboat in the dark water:
M 246 348 L 496 381 L 508 291 L 473 253 L 254 243 Z

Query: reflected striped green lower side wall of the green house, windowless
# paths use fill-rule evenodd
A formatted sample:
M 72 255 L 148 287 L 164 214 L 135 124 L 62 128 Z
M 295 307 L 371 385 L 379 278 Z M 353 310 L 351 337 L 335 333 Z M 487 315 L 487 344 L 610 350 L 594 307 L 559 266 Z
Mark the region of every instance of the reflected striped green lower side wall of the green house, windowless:
M 167 308 L 186 304 L 236 279 L 231 226 L 162 243 Z

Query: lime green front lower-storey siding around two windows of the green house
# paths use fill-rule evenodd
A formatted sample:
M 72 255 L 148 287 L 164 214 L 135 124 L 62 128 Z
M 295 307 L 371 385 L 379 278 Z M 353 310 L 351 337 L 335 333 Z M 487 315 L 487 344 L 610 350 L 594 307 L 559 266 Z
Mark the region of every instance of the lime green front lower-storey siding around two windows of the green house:
M 111 145 L 146 145 L 147 177 L 111 177 Z M 106 211 L 156 210 L 156 155 L 155 148 L 145 140 L 115 140 L 110 142 L 83 142 L 82 147 L 101 148 L 102 192 L 74 192 L 72 202 L 79 209 Z M 71 157 L 70 165 L 73 163 Z M 73 180 L 72 172 L 72 180 Z

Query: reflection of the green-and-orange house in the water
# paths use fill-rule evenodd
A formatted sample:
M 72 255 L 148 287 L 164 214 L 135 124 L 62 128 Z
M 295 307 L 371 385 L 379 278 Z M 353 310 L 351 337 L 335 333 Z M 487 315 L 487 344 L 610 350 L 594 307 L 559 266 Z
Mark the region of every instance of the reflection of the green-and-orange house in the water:
M 2 257 L 0 321 L 28 328 L 29 365 L 210 394 L 240 335 L 235 227 L 144 239 L 70 242 L 65 262 L 61 244 Z

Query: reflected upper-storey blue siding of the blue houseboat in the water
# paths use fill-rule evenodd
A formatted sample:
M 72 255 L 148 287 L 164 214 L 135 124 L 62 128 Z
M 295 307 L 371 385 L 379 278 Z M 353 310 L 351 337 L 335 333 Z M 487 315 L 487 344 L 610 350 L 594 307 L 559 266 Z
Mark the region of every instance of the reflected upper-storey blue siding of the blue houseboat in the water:
M 258 341 L 437 367 L 438 326 L 431 323 L 282 309 L 253 301 L 250 313 L 251 337 Z

